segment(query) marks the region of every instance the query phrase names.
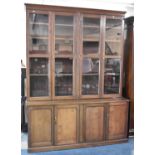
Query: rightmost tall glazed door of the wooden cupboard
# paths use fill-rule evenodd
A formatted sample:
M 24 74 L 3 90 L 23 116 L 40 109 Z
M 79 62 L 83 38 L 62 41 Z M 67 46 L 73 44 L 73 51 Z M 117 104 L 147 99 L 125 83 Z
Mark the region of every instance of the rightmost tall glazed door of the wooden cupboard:
M 121 96 L 122 88 L 122 52 L 123 22 L 122 18 L 106 17 L 104 32 L 103 82 L 105 97 Z

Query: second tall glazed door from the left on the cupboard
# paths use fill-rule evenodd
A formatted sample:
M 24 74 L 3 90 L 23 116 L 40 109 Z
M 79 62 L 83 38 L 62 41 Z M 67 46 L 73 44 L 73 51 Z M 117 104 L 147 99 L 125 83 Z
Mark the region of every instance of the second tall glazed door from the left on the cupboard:
M 75 15 L 55 15 L 55 77 L 54 97 L 74 98 L 75 96 Z

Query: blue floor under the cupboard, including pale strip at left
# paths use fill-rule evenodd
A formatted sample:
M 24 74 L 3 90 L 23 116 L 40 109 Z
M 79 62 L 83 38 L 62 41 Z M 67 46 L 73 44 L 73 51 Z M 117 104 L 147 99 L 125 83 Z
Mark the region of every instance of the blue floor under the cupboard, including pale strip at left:
M 99 147 L 89 147 L 80 149 L 70 149 L 50 152 L 27 152 L 27 134 L 21 134 L 21 155 L 133 155 L 134 153 L 134 138 L 129 138 L 127 143 L 113 144 Z

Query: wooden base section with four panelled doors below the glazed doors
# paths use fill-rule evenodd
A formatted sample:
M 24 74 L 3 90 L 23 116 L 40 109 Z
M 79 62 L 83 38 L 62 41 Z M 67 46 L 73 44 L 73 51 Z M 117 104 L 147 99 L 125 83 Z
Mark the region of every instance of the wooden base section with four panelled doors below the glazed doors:
M 107 145 L 127 140 L 128 102 L 92 100 L 28 106 L 29 151 Z

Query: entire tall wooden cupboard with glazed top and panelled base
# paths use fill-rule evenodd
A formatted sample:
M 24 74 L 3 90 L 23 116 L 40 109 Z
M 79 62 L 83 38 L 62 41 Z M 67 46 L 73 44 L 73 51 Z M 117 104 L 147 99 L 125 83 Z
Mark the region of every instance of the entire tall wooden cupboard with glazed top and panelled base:
M 124 14 L 26 4 L 29 151 L 127 140 Z

